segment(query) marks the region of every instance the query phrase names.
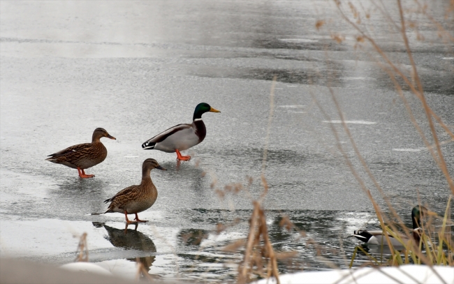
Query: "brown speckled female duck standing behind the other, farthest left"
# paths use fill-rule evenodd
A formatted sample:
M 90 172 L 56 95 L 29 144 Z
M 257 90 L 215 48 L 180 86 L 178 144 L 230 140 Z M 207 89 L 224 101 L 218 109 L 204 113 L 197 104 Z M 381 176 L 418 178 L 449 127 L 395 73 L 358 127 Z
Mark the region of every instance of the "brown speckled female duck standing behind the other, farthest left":
M 105 149 L 100 139 L 108 137 L 116 140 L 115 137 L 109 135 L 104 128 L 96 128 L 91 137 L 91 143 L 77 144 L 66 149 L 63 149 L 55 154 L 49 155 L 49 160 L 52 163 L 66 165 L 73 169 L 78 169 L 79 177 L 87 179 L 94 177 L 94 174 L 85 174 L 85 169 L 98 165 L 105 157 L 107 157 L 107 149 Z

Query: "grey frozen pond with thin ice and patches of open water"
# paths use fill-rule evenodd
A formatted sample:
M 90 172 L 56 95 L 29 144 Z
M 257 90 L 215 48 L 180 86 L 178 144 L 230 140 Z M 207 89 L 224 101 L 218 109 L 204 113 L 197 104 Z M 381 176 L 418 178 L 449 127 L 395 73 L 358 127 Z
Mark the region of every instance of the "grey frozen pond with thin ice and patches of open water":
M 434 4 L 441 20 L 442 2 Z M 222 248 L 247 236 L 251 200 L 263 191 L 274 75 L 264 207 L 274 248 L 298 251 L 295 261 L 279 263 L 281 272 L 346 267 L 358 245 L 347 237 L 379 226 L 338 144 L 385 206 L 339 124 L 328 87 L 407 225 L 418 200 L 444 212 L 450 193 L 444 175 L 393 82 L 367 54 L 372 50 L 355 46 L 356 32 L 330 1 L 1 1 L 0 11 L 1 257 L 71 262 L 73 235 L 87 232 L 89 259 L 114 274 L 133 278 L 140 257 L 155 278 L 233 280 L 242 254 Z M 437 41 L 437 30 L 423 19 L 417 20 L 426 40 L 412 34 L 413 56 L 427 103 L 453 131 L 452 43 Z M 317 20 L 327 27 L 317 30 Z M 378 12 L 371 21 L 385 52 L 409 70 L 398 33 L 389 32 Z M 452 19 L 442 24 L 453 34 Z M 346 40 L 338 44 L 332 33 Z M 420 101 L 408 90 L 404 96 L 430 136 Z M 186 151 L 189 162 L 142 150 L 142 142 L 162 130 L 189 123 L 200 102 L 221 113 L 204 114 L 207 137 Z M 117 140 L 101 140 L 108 157 L 87 170 L 93 179 L 45 161 L 89 142 L 97 127 Z M 453 175 L 454 143 L 437 130 Z M 122 214 L 91 215 L 105 211 L 103 200 L 140 182 L 146 158 L 168 169 L 152 171 L 159 197 L 140 214 L 149 223 L 125 231 Z M 231 184 L 247 190 L 221 197 L 217 190 Z M 307 236 L 281 229 L 284 214 Z M 216 234 L 219 223 L 229 226 Z M 320 244 L 324 258 L 308 239 Z

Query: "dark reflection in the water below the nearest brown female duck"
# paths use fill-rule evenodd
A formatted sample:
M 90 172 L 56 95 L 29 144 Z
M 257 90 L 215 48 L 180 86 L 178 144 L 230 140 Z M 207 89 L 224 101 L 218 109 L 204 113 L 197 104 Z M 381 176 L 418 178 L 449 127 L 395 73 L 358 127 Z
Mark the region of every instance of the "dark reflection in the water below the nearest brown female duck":
M 104 227 L 108 232 L 108 236 L 105 237 L 110 243 L 117 248 L 124 248 L 126 250 L 144 251 L 146 253 L 156 253 L 156 246 L 152 239 L 146 234 L 137 230 L 138 224 L 126 224 L 124 230 L 110 227 L 101 222 L 93 222 L 95 227 Z M 134 229 L 128 229 L 128 225 L 134 226 Z M 148 255 L 145 257 L 138 257 L 139 261 L 143 264 L 145 269 L 149 271 L 150 267 L 154 262 L 154 255 Z M 136 262 L 136 258 L 127 258 L 132 262 Z

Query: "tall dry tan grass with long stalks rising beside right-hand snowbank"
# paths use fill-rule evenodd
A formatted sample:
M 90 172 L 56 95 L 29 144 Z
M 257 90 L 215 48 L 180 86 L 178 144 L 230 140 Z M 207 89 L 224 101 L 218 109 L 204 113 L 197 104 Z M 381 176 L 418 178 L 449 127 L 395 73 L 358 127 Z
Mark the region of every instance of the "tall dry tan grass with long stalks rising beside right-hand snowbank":
M 375 1 L 372 1 L 374 5 L 378 7 L 382 7 L 383 3 L 376 3 Z M 443 40 L 448 40 L 453 42 L 454 38 L 449 35 L 449 33 L 443 29 L 442 25 L 439 24 L 434 20 L 434 17 L 430 16 L 430 12 L 427 9 L 427 6 L 422 6 L 418 1 L 414 1 L 416 3 L 416 13 L 422 13 L 423 15 L 426 15 L 434 24 L 437 26 L 437 29 L 439 29 L 440 37 Z M 343 20 L 346 21 L 353 29 L 355 29 L 358 32 L 358 36 L 356 38 L 360 38 L 358 42 L 363 43 L 366 42 L 370 46 L 372 46 L 373 50 L 375 51 L 376 54 L 379 54 L 381 57 L 382 61 L 379 61 L 379 66 L 388 74 L 390 77 L 390 80 L 395 84 L 395 89 L 397 91 L 397 94 L 400 96 L 402 99 L 402 103 L 404 103 L 406 110 L 409 114 L 409 117 L 411 119 L 411 122 L 413 123 L 413 126 L 415 126 L 416 130 L 418 130 L 418 133 L 425 143 L 425 146 L 427 149 L 430 151 L 430 154 L 432 155 L 432 158 L 436 161 L 437 165 L 439 166 L 439 169 L 441 172 L 443 172 L 444 177 L 446 177 L 446 181 L 448 183 L 448 187 L 451 190 L 451 196 L 454 194 L 454 183 L 453 179 L 450 176 L 448 172 L 448 167 L 446 165 L 446 161 L 444 160 L 444 155 L 443 152 L 441 151 L 441 143 L 439 142 L 439 138 L 437 135 L 437 130 L 435 129 L 434 125 L 434 120 L 446 131 L 448 135 L 451 136 L 451 138 L 454 138 L 452 131 L 446 126 L 446 124 L 443 123 L 443 121 L 436 115 L 434 114 L 433 110 L 430 108 L 430 106 L 427 104 L 427 100 L 425 99 L 425 94 L 423 91 L 423 84 L 420 80 L 420 76 L 418 75 L 418 68 L 416 67 L 416 63 L 413 59 L 413 54 L 411 52 L 411 47 L 409 44 L 409 39 L 407 36 L 407 24 L 408 20 L 405 18 L 404 15 L 404 8 L 402 8 L 402 1 L 396 0 L 396 6 L 398 10 L 398 19 L 394 20 L 391 15 L 386 12 L 386 9 L 382 8 L 379 9 L 386 19 L 388 19 L 388 22 L 390 22 L 392 27 L 395 27 L 395 29 L 400 31 L 400 35 L 402 37 L 402 42 L 404 43 L 405 50 L 407 52 L 408 60 L 411 65 L 411 77 L 408 77 L 407 75 L 404 75 L 404 70 L 400 70 L 398 68 L 397 64 L 393 63 L 391 61 L 390 57 L 386 54 L 386 52 L 383 51 L 383 49 L 379 46 L 378 43 L 376 43 L 376 40 L 372 38 L 372 36 L 369 35 L 369 32 L 367 31 L 367 26 L 361 24 L 361 19 L 363 18 L 368 18 L 367 16 L 361 17 L 361 15 L 367 15 L 367 12 L 364 10 L 363 6 L 355 6 L 353 3 L 349 2 L 348 8 L 350 9 L 351 13 L 348 13 L 346 10 L 345 5 L 342 5 L 341 1 L 335 1 L 337 8 L 339 10 L 340 15 L 342 16 Z M 381 5 L 381 6 L 380 6 Z M 451 6 L 453 3 L 451 3 Z M 363 10 L 362 10 L 363 9 Z M 348 16 L 350 15 L 350 16 Z M 414 24 L 414 23 L 412 23 Z M 406 100 L 402 89 L 403 86 L 400 82 L 404 82 L 405 87 L 408 87 L 408 89 L 411 90 L 411 94 L 416 96 L 421 102 L 421 105 L 423 107 L 423 110 L 426 114 L 427 118 L 427 123 L 430 128 L 430 133 L 432 135 L 432 140 L 433 140 L 433 145 L 430 143 L 429 137 L 427 137 L 424 132 L 423 132 L 423 127 L 418 124 L 416 119 L 414 118 L 413 111 L 411 110 L 411 106 L 409 105 L 408 101 Z M 339 107 L 339 103 L 337 103 L 336 96 L 334 91 L 330 89 L 330 92 L 332 94 L 332 100 L 335 102 L 335 105 L 337 107 L 337 111 L 339 115 L 341 116 L 342 120 L 342 110 Z M 374 186 L 376 189 L 379 190 L 379 193 L 381 193 L 381 196 L 383 199 L 386 201 L 386 205 L 388 207 L 388 211 L 391 212 L 391 216 L 393 218 L 397 219 L 397 224 L 393 224 L 390 222 L 390 218 L 387 218 L 385 214 L 383 214 L 382 209 L 379 207 L 379 204 L 377 204 L 372 197 L 369 188 L 365 186 L 365 182 L 360 179 L 358 176 L 358 173 L 353 169 L 351 166 L 351 162 L 349 161 L 349 158 L 344 155 L 344 158 L 347 161 L 347 164 L 351 168 L 351 171 L 353 172 L 353 175 L 355 175 L 356 179 L 361 185 L 361 188 L 367 193 L 367 196 L 369 196 L 369 200 L 372 202 L 374 205 L 374 209 L 376 211 L 376 216 L 379 218 L 381 227 L 385 230 L 385 236 L 386 240 L 388 242 L 388 246 L 390 247 L 391 251 L 391 257 L 390 260 L 387 262 L 387 264 L 390 265 L 400 265 L 400 264 L 407 264 L 412 261 L 414 264 L 441 264 L 441 265 L 454 265 L 454 260 L 453 260 L 453 240 L 451 239 L 451 232 L 450 232 L 450 226 L 453 223 L 451 222 L 451 197 L 449 198 L 447 204 L 446 204 L 446 211 L 444 216 L 437 216 L 436 214 L 430 214 L 430 217 L 434 218 L 439 218 L 443 222 L 443 225 L 439 230 L 434 229 L 432 226 L 432 218 L 430 218 L 427 223 L 423 223 L 422 225 L 422 232 L 421 232 L 421 240 L 419 244 L 416 244 L 414 241 L 409 242 L 408 244 L 404 244 L 402 240 L 402 244 L 404 245 L 404 250 L 403 251 L 397 251 L 391 246 L 389 236 L 393 236 L 396 239 L 400 239 L 399 236 L 397 235 L 397 232 L 399 229 L 403 230 L 404 234 L 407 235 L 407 237 L 411 237 L 411 232 L 408 230 L 403 224 L 402 219 L 400 216 L 397 214 L 396 210 L 393 208 L 393 206 L 390 204 L 390 201 L 388 200 L 388 197 L 386 197 L 385 193 L 383 192 L 382 188 L 379 186 L 378 182 L 376 179 L 374 179 L 372 172 L 369 170 L 369 167 L 367 167 L 367 164 L 365 163 L 365 160 L 363 156 L 361 156 L 360 152 L 358 151 L 358 147 L 356 147 L 356 144 L 353 140 L 353 137 L 351 133 L 349 132 L 349 128 L 347 128 L 346 124 L 343 124 L 343 128 L 345 133 L 348 135 L 350 138 L 350 142 L 353 146 L 353 149 L 355 150 L 356 157 L 360 160 L 361 165 L 363 165 L 363 169 L 367 174 L 369 175 L 369 178 L 374 182 Z M 333 129 L 333 132 L 335 132 L 335 129 Z M 344 151 L 342 149 L 339 149 L 340 151 Z M 385 223 L 390 224 L 389 226 L 386 226 Z M 388 235 L 389 234 L 389 235 Z M 434 240 L 437 239 L 438 245 L 434 243 Z M 423 251 L 423 248 L 425 248 L 425 252 Z M 402 254 L 404 257 L 402 258 Z M 373 257 L 371 257 L 373 259 Z M 353 260 L 352 260 L 353 261 Z

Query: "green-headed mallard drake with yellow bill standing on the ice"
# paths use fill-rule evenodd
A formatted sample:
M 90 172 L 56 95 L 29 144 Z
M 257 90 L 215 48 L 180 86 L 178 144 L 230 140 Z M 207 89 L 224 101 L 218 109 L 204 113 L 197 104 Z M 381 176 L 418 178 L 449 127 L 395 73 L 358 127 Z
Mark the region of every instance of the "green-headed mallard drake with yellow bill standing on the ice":
M 182 156 L 180 151 L 184 151 L 196 146 L 205 139 L 207 130 L 202 120 L 205 112 L 219 112 L 214 110 L 207 103 L 199 103 L 194 110 L 192 124 L 178 124 L 168 130 L 159 133 L 142 144 L 145 150 L 156 149 L 167 153 L 177 153 L 178 160 L 189 160 L 191 156 Z

